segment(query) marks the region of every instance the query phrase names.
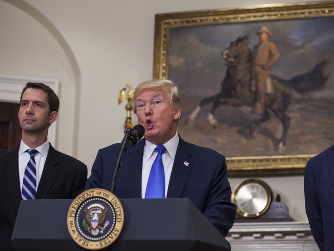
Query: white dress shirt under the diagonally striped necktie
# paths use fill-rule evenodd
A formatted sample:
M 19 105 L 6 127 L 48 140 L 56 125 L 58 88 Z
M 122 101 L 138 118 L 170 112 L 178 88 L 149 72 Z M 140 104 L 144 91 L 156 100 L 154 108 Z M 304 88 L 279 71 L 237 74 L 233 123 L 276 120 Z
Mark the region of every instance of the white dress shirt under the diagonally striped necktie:
M 48 152 L 49 152 L 49 148 L 50 148 L 49 141 L 46 141 L 43 145 L 35 148 L 38 151 L 38 153 L 35 155 L 37 189 L 38 189 L 40 177 L 42 176 L 42 173 L 43 173 L 44 164 L 45 164 L 45 160 L 48 155 Z M 30 160 L 30 154 L 26 152 L 28 149 L 30 149 L 30 147 L 24 144 L 24 142 L 21 140 L 21 143 L 19 146 L 19 183 L 20 183 L 21 191 L 22 191 L 23 176 L 24 176 L 25 168 L 27 167 L 27 164 Z

